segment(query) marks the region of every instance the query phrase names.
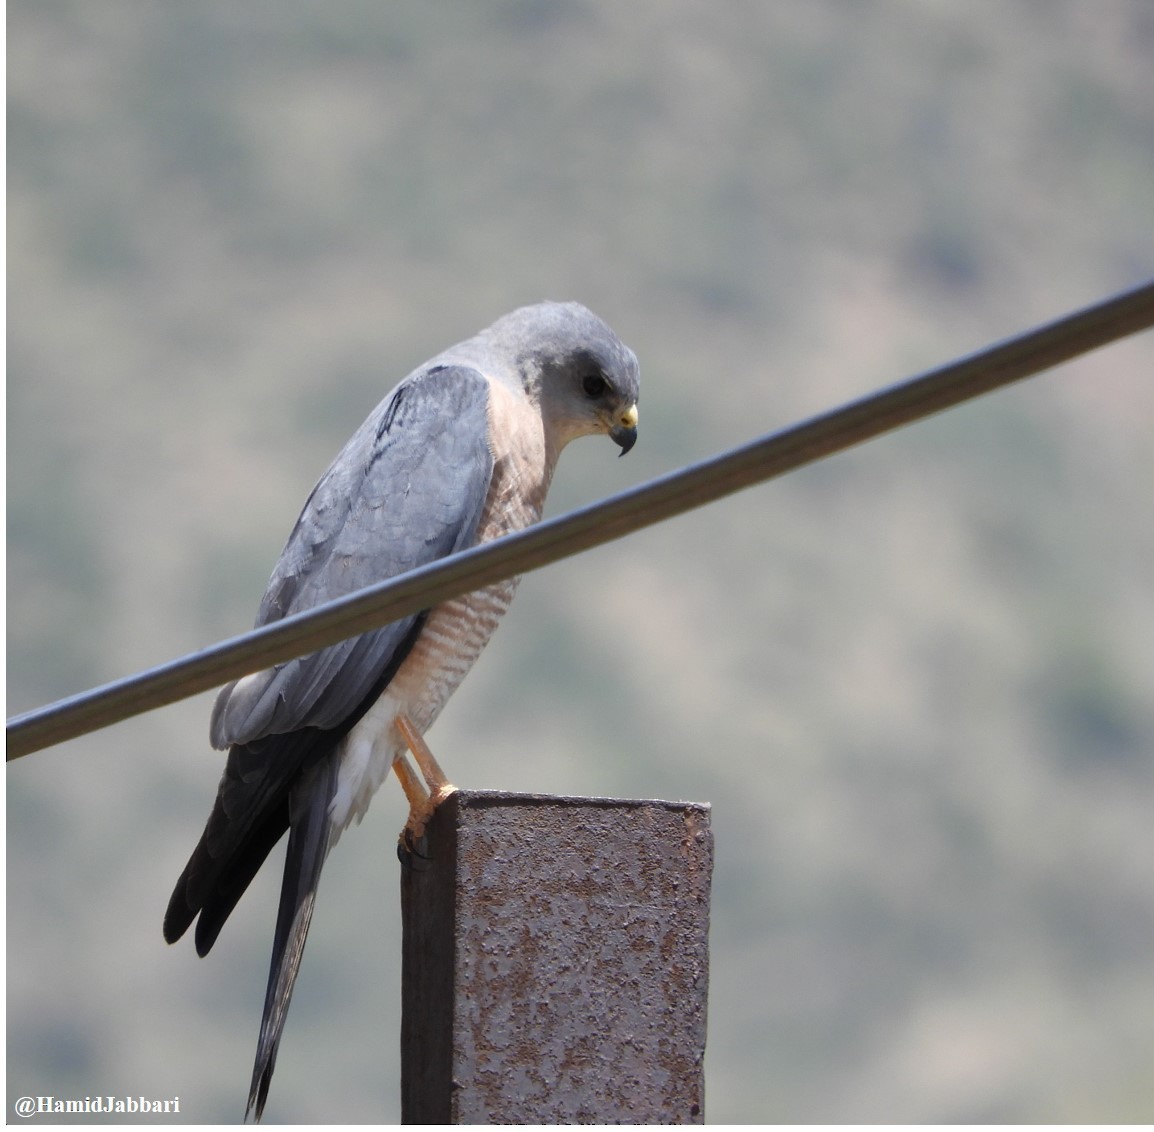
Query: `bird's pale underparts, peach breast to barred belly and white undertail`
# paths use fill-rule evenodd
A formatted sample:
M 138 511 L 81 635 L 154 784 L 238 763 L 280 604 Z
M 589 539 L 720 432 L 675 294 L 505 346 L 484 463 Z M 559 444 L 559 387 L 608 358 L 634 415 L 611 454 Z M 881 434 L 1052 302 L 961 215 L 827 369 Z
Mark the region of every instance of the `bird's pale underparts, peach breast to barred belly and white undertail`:
M 527 399 L 489 384 L 489 437 L 493 478 L 477 531 L 488 542 L 541 517 L 553 474 L 540 414 Z M 389 687 L 342 744 L 337 790 L 329 810 L 331 844 L 352 822 L 360 822 L 392 760 L 404 752 L 394 726 L 404 713 L 427 730 L 488 644 L 504 616 L 519 578 L 486 586 L 436 606 Z

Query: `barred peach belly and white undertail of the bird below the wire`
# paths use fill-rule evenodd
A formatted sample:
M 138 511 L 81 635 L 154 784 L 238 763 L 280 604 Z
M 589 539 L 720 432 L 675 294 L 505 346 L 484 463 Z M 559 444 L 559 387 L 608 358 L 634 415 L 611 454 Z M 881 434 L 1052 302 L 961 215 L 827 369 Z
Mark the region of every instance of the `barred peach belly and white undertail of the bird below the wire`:
M 337 789 L 329 808 L 332 844 L 352 822 L 360 822 L 368 803 L 405 751 L 395 726 L 404 713 L 421 733 L 433 726 L 488 644 L 509 608 L 518 578 L 436 606 L 417 643 L 388 688 L 352 728 L 340 748 Z

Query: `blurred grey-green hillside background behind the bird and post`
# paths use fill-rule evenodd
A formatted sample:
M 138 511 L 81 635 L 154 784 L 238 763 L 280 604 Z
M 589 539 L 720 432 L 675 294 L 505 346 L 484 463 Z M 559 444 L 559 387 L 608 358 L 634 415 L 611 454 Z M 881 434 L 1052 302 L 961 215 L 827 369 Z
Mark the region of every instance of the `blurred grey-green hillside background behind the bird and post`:
M 9 0 L 8 82 L 10 712 L 248 628 L 512 307 L 642 360 L 556 515 L 1154 275 L 1146 0 Z M 1149 1119 L 1152 497 L 1147 335 L 525 579 L 434 749 L 713 803 L 711 1122 Z M 279 850 L 160 937 L 210 703 L 8 770 L 9 1105 L 243 1111 Z M 329 862 L 270 1120 L 398 1119 L 404 814 Z

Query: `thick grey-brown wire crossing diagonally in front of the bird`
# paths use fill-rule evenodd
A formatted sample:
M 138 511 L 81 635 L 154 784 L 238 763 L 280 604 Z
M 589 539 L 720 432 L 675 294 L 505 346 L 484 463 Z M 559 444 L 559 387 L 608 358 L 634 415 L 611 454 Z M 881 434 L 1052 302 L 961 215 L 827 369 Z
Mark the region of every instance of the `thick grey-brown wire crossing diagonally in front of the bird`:
M 599 503 L 15 715 L 8 760 L 601 546 L 1154 327 L 1154 280 Z

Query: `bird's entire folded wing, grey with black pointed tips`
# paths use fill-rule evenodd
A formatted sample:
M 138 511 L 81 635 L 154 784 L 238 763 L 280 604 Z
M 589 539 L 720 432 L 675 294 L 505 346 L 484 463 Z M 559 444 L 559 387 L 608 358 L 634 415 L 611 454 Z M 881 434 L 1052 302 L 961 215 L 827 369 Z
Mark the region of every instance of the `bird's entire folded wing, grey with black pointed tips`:
M 433 367 L 406 378 L 313 489 L 261 605 L 258 624 L 471 546 L 488 492 L 488 382 Z M 201 840 L 165 915 L 172 943 L 200 913 L 211 949 L 290 824 L 290 792 L 330 754 L 392 677 L 421 615 L 247 676 L 217 697 L 211 734 L 228 745 Z M 323 860 L 323 857 L 322 857 Z

